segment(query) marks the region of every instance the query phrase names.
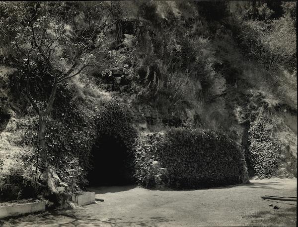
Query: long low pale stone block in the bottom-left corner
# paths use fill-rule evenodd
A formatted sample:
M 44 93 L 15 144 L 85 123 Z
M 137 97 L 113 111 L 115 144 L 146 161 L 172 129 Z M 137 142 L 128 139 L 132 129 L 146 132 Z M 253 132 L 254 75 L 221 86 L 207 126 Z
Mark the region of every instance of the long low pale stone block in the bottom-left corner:
M 0 207 L 0 219 L 46 210 L 45 202 L 13 204 Z

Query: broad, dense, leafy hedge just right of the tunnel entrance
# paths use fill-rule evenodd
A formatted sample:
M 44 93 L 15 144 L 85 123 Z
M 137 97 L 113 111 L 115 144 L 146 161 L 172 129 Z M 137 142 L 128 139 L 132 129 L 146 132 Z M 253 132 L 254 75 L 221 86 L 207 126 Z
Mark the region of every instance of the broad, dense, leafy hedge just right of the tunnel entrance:
M 141 135 L 135 144 L 139 184 L 154 186 L 152 161 L 167 168 L 172 188 L 200 188 L 245 183 L 244 152 L 226 135 L 211 130 L 173 128 Z

